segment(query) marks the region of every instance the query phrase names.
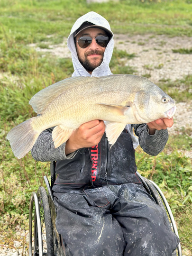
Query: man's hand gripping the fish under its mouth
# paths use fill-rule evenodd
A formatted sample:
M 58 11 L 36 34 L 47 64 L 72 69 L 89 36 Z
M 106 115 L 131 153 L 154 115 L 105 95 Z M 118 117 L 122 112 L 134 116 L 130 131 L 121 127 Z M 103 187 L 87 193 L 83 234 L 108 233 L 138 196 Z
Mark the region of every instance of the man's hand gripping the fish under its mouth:
M 161 130 L 161 129 L 166 129 L 167 127 L 172 127 L 174 124 L 174 119 L 157 119 L 153 122 L 147 123 L 148 129 L 149 129 L 149 134 L 154 135 L 155 130 Z

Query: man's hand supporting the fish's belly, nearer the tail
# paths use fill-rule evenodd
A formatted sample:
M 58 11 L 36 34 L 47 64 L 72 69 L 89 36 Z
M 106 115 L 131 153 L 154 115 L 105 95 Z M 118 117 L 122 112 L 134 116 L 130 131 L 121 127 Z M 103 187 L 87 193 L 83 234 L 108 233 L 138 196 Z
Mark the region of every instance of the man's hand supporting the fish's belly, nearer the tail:
M 82 147 L 97 145 L 105 132 L 105 124 L 101 120 L 92 120 L 82 124 L 67 140 L 65 155 Z

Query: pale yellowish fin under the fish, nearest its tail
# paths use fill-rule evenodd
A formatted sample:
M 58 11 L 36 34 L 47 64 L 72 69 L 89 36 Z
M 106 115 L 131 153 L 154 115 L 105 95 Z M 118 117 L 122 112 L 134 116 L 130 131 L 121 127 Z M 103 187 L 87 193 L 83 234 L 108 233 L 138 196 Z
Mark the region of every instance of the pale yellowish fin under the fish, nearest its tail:
M 62 125 L 58 125 L 53 129 L 52 138 L 55 148 L 61 146 L 72 135 L 73 129 L 66 129 Z

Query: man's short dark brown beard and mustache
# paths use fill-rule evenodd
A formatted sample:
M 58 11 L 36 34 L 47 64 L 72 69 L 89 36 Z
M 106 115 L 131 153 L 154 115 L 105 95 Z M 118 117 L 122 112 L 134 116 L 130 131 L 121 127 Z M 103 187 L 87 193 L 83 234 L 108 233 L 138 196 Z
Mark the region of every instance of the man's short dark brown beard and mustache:
M 89 55 L 92 55 L 92 54 L 97 54 L 97 55 L 101 55 L 102 58 L 100 60 L 99 63 L 91 63 L 88 59 L 87 59 L 87 56 Z M 89 53 L 85 53 L 85 60 L 82 60 L 80 57 L 79 57 L 79 61 L 80 63 L 82 64 L 82 66 L 84 67 L 84 69 L 86 69 L 88 72 L 92 72 L 94 69 L 96 69 L 96 67 L 99 67 L 103 61 L 103 52 L 102 51 L 98 51 L 98 50 L 95 50 L 95 51 L 91 51 Z M 97 59 L 97 58 L 95 58 Z

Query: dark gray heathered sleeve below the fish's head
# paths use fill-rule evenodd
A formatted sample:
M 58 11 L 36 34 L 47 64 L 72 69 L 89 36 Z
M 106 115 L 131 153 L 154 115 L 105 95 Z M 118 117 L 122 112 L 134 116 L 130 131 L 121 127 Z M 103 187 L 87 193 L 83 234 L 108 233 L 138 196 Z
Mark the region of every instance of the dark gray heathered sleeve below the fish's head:
M 141 148 L 148 155 L 158 155 L 164 149 L 169 137 L 167 129 L 156 130 L 154 135 L 150 135 L 146 124 L 135 124 L 133 127 Z

